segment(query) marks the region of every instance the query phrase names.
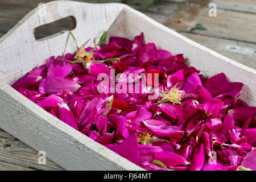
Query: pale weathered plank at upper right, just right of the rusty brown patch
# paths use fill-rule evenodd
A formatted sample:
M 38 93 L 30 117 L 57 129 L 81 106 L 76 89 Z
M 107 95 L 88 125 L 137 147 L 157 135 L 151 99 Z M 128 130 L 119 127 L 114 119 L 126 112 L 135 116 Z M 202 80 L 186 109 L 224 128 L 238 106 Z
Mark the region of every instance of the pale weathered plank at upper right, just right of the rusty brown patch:
M 194 26 L 192 32 L 216 38 L 256 43 L 256 14 L 218 10 L 216 17 L 210 17 L 208 11 L 208 9 L 204 9 L 196 20 L 197 23 L 205 27 L 205 30 Z

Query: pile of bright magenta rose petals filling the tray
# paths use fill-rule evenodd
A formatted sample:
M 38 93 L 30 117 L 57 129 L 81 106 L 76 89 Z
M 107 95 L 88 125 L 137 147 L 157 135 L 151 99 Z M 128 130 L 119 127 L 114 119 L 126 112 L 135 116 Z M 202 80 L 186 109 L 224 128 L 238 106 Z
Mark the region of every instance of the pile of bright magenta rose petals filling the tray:
M 86 48 L 90 51 L 92 48 Z M 50 57 L 13 85 L 69 126 L 147 170 L 256 170 L 256 107 L 238 99 L 241 82 L 224 73 L 205 78 L 188 67 L 182 54 L 112 37 L 93 52 L 95 60 L 68 63 Z M 56 59 L 75 60 L 68 53 Z M 159 75 L 159 90 L 175 85 L 185 94 L 181 104 L 148 100 L 149 92 L 109 93 L 98 87 L 100 73 Z M 115 80 L 115 84 L 120 81 Z

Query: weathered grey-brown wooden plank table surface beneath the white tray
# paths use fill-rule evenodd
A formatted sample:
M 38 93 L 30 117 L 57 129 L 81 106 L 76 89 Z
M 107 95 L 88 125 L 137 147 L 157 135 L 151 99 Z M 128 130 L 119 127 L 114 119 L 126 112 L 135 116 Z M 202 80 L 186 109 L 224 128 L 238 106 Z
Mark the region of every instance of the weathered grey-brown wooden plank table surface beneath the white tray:
M 0 0 L 0 37 L 47 0 Z M 255 0 L 89 0 L 121 2 L 222 55 L 256 69 Z M 138 3 L 139 2 L 139 3 Z M 209 16 L 209 3 L 217 16 Z M 68 28 L 67 21 L 38 30 L 38 38 Z M 184 50 L 185 52 L 185 50 Z M 63 170 L 50 160 L 38 164 L 38 152 L 0 129 L 0 170 Z

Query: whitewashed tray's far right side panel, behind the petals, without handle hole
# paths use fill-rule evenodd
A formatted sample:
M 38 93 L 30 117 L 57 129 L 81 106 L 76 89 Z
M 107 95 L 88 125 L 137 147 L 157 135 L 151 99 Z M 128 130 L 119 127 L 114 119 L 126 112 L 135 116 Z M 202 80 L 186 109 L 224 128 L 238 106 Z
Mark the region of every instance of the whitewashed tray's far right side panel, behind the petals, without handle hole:
M 123 11 L 125 11 L 123 34 L 125 38 L 133 39 L 134 36 L 144 32 L 146 43 L 153 42 L 158 48 L 170 51 L 172 55 L 184 53 L 184 57 L 188 58 L 188 64 L 199 69 L 205 77 L 209 78 L 223 72 L 229 81 L 242 82 L 245 85 L 240 98 L 251 106 L 256 104 L 254 69 L 201 46 L 128 6 Z

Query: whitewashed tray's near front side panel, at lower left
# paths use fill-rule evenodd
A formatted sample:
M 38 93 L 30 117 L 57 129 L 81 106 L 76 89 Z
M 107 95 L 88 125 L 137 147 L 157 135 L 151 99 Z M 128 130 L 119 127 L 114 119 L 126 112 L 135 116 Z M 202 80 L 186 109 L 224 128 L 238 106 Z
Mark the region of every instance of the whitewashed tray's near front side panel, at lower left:
M 143 170 L 0 81 L 0 127 L 67 170 Z

